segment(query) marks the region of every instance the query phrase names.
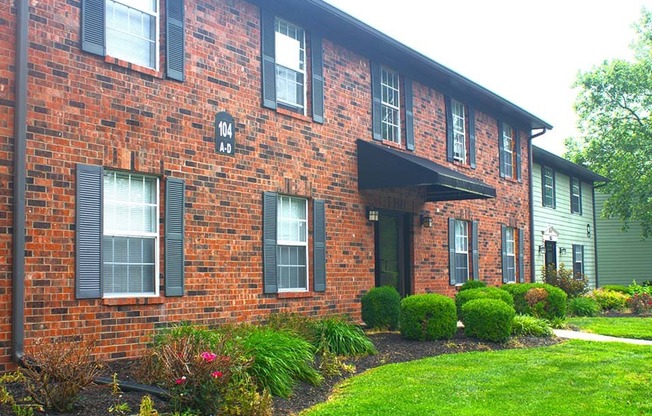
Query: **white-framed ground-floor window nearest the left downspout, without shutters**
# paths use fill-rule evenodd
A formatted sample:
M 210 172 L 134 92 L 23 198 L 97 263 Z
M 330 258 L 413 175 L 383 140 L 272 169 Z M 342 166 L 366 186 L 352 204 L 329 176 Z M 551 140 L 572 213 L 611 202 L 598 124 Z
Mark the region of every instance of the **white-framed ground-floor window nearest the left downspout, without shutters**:
M 158 295 L 158 179 L 105 172 L 103 292 Z

